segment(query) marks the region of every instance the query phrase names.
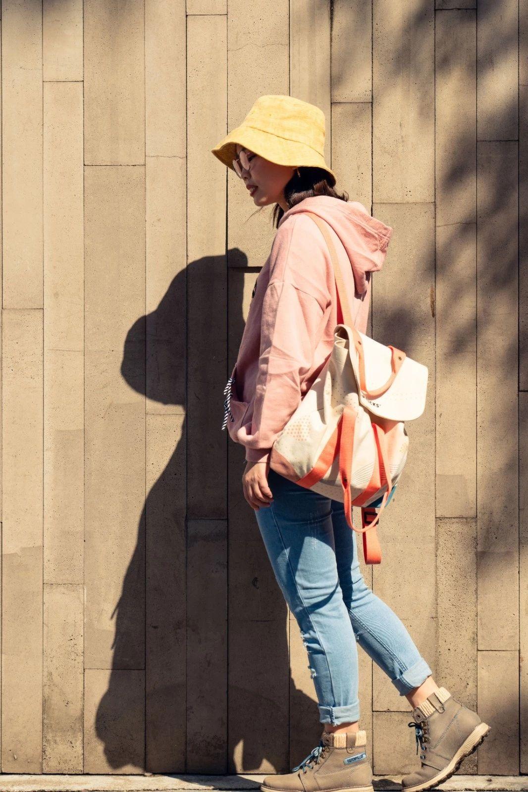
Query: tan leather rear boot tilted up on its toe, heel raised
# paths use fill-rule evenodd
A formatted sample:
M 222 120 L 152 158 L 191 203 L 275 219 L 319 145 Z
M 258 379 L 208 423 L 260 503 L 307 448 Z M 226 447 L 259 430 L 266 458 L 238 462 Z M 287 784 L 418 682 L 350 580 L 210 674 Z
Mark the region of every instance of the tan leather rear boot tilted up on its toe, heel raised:
M 469 710 L 450 691 L 440 687 L 412 710 L 416 752 L 422 748 L 422 767 L 401 779 L 405 792 L 422 792 L 449 779 L 465 756 L 478 748 L 490 731 L 476 712 Z

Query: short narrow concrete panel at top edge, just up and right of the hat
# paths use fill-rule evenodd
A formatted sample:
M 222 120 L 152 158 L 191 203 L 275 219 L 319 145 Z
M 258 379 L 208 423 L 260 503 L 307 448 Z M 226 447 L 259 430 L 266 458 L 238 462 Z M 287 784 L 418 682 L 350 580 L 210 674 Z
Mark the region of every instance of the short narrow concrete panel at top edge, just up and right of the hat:
M 335 102 L 334 113 L 342 102 L 372 102 L 372 0 L 335 0 L 332 4 L 331 100 Z M 334 121 L 333 115 L 332 124 Z M 345 130 L 332 128 L 335 157 L 335 144 L 342 140 L 339 133 Z M 351 147 L 350 151 L 355 157 L 356 150 Z M 335 172 L 334 164 L 332 160 Z

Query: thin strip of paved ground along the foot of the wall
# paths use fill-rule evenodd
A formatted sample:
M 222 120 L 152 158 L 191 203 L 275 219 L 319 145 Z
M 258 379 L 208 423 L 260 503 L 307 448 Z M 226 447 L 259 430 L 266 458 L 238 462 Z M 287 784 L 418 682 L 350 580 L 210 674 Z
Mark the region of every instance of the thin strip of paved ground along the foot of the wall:
M 181 790 L 258 789 L 264 775 L 29 775 L 0 774 L 0 792 L 181 792 Z M 400 790 L 400 777 L 373 778 L 375 790 Z M 454 775 L 439 790 L 446 792 L 528 792 L 528 775 Z

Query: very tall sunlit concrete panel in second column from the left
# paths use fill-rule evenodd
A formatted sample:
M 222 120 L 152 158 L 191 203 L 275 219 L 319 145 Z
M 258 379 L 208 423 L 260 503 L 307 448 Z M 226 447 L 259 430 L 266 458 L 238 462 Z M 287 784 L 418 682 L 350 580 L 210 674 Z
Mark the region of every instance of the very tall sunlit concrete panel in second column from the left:
M 44 581 L 82 583 L 82 83 L 44 85 Z

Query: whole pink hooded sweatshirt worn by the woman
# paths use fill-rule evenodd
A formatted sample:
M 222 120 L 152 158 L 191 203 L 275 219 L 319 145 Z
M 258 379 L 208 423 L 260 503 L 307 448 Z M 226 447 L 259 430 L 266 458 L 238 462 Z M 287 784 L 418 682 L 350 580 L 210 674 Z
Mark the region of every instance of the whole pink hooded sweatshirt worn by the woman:
M 392 228 L 358 201 L 305 198 L 282 215 L 258 273 L 239 353 L 224 390 L 224 426 L 266 461 L 271 447 L 327 362 L 338 317 L 335 276 L 312 211 L 330 224 L 354 325 L 366 332 L 370 272 L 380 270 Z

